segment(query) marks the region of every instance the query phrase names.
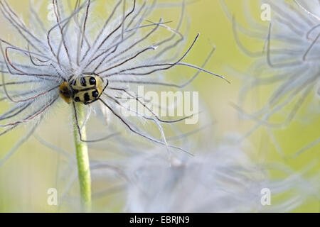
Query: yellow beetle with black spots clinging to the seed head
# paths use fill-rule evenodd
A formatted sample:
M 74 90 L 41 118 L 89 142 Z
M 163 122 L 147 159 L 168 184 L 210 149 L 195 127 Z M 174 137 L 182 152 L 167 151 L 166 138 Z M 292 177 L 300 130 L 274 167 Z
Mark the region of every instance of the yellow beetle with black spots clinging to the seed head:
M 68 104 L 76 101 L 87 105 L 97 101 L 107 85 L 108 81 L 105 83 L 97 74 L 70 77 L 68 82 L 60 84 L 59 94 Z

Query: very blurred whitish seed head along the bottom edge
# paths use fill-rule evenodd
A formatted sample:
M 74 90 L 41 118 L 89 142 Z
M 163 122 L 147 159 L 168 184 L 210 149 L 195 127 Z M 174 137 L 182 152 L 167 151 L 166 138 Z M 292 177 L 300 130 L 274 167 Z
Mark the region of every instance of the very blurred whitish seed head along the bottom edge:
M 276 165 L 272 168 L 283 177 L 272 179 L 271 166 L 258 165 L 237 146 L 176 159 L 171 167 L 161 153 L 140 155 L 126 166 L 129 212 L 286 212 L 319 199 L 316 175 L 305 177 Z M 269 205 L 264 190 L 270 192 Z

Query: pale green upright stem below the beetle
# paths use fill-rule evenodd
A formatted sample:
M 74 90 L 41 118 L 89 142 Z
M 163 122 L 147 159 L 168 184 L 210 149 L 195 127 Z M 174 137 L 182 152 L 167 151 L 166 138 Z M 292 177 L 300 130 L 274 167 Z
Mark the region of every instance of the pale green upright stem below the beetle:
M 78 125 L 81 127 L 82 123 L 85 121 L 85 110 L 83 104 L 75 104 L 78 116 Z M 75 116 L 73 119 L 74 126 L 74 136 L 75 136 L 75 152 L 77 155 L 78 164 L 78 177 L 80 183 L 80 196 L 82 211 L 91 211 L 91 176 L 90 176 L 90 162 L 87 150 L 87 143 L 80 140 L 80 135 L 78 132 L 78 126 L 75 121 Z M 85 131 L 85 126 L 81 128 L 82 140 L 86 140 L 87 135 Z

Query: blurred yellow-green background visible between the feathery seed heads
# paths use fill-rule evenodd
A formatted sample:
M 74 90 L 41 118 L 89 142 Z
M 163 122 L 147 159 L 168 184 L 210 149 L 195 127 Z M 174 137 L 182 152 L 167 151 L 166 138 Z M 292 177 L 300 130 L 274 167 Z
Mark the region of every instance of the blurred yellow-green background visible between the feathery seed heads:
M 8 0 L 8 2 L 18 12 L 18 15 L 27 20 L 29 1 Z M 159 2 L 166 4 L 171 1 L 159 0 Z M 239 23 L 246 23 L 243 11 L 244 4 L 245 7 L 250 7 L 252 20 L 260 20 L 260 1 L 226 0 L 225 4 Z M 154 18 L 163 17 L 164 21 L 173 21 L 170 26 L 175 27 L 180 11 L 179 7 L 163 8 L 157 10 L 152 16 Z M 41 13 L 47 12 L 48 9 L 41 9 Z M 103 15 L 103 12 L 97 11 L 97 13 Z M 232 23 L 225 16 L 219 1 L 192 1 L 186 6 L 186 14 L 190 18 L 186 45 L 193 41 L 197 33 L 201 34 L 186 61 L 194 65 L 202 65 L 212 48 L 211 43 L 213 43 L 216 50 L 206 65 L 206 70 L 221 74 L 231 82 L 227 84 L 222 79 L 211 77 L 208 74 L 201 74 L 189 89 L 199 92 L 203 105 L 207 106 L 207 111 L 215 121 L 215 134 L 212 135 L 214 140 L 221 141 L 228 136 L 243 135 L 254 126 L 255 122 L 249 120 L 240 121 L 239 112 L 234 108 L 233 104 L 238 104 L 240 88 L 246 82 L 239 75 L 245 75 L 247 68 L 255 59 L 247 57 L 238 48 L 233 35 Z M 2 16 L 0 23 L 0 36 L 6 40 L 10 38 L 10 30 L 6 27 Z M 265 23 L 267 25 L 268 22 Z M 267 31 L 265 32 L 267 33 Z M 264 45 L 263 42 L 250 38 L 242 38 L 242 43 L 250 50 L 261 50 Z M 173 74 L 176 74 L 176 76 L 179 74 L 188 76 L 190 75 L 190 70 L 179 68 L 174 70 Z M 270 91 L 272 91 L 272 87 L 262 92 L 260 91 L 259 96 L 252 92 L 245 100 L 244 108 L 246 110 L 257 109 L 261 105 L 261 100 L 265 100 L 265 97 L 270 95 Z M 287 128 L 274 132 L 274 136 L 279 141 L 279 145 L 282 146 L 285 155 L 293 155 L 300 148 L 319 138 L 319 114 L 314 114 L 314 112 L 310 111 L 310 105 L 314 106 L 315 109 L 319 109 L 319 100 L 309 97 L 304 106 L 299 109 L 294 121 Z M 6 105 L 2 102 L 0 111 L 4 111 L 5 108 Z M 44 145 L 46 142 L 43 141 L 54 141 L 52 143 L 56 147 L 68 150 L 70 155 L 73 154 L 73 142 L 70 143 L 73 138 L 69 127 L 70 123 L 68 123 L 70 120 L 68 111 L 70 110 L 66 106 L 59 105 L 58 108 L 56 106 L 54 111 L 46 116 L 45 122 L 41 124 L 41 138 L 36 133 L 0 167 L 0 211 L 68 211 L 66 210 L 67 208 L 58 210 L 55 206 L 48 206 L 47 190 L 49 188 L 57 188 L 59 192 L 63 192 L 71 182 L 69 175 L 71 172 L 76 174 L 76 170 L 68 166 L 68 160 L 65 160 L 63 155 L 56 152 L 57 149 L 53 151 L 48 148 L 48 144 Z M 309 118 L 312 118 L 312 122 L 306 121 Z M 13 148 L 17 138 L 21 138 L 25 133 L 26 128 L 21 127 L 14 133 L 0 137 L 0 159 L 4 158 L 9 150 Z M 245 143 L 255 156 L 256 162 L 281 162 L 300 172 L 314 160 L 316 165 L 313 165 L 311 173 L 319 171 L 319 160 L 315 157 L 316 154 L 319 155 L 320 144 L 302 153 L 297 158 L 284 159 L 277 152 L 264 128 L 258 128 L 255 133 L 245 138 Z M 279 176 L 274 174 L 272 177 L 277 178 Z M 75 187 L 71 189 L 74 194 L 78 192 L 77 184 L 78 182 L 75 180 Z M 95 185 L 93 186 L 95 187 Z M 99 186 L 97 185 L 96 187 Z M 112 200 L 112 198 L 94 200 L 94 203 L 99 207 L 108 200 Z M 121 211 L 124 201 L 121 201 L 121 198 L 118 201 L 119 204 L 117 206 L 113 206 L 111 210 L 104 209 L 103 211 Z M 319 201 L 307 201 L 293 211 L 319 212 L 319 206 Z

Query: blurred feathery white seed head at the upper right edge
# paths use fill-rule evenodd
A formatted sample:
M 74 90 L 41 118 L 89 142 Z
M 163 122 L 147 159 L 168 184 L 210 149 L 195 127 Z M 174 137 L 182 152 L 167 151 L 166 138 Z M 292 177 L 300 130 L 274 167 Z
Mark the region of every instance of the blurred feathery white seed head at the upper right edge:
M 292 120 L 312 123 L 319 113 L 320 5 L 316 0 L 277 3 L 257 1 L 257 4 L 263 6 L 259 12 L 270 13 L 271 19 L 257 21 L 247 3 L 248 1 L 244 1 L 242 4 L 247 23 L 244 25 L 245 23 L 240 23 L 238 16 L 232 15 L 223 1 L 220 1 L 225 14 L 233 23 L 235 42 L 242 52 L 253 59 L 245 74 L 234 72 L 243 81 L 239 103 L 235 108 L 242 118 L 255 121 L 255 125 L 243 138 L 264 126 L 280 155 L 285 157 L 274 131 L 288 128 Z M 245 40 L 256 40 L 261 48 L 251 50 L 247 48 Z M 253 96 L 250 96 L 252 94 Z M 253 98 L 249 99 L 249 96 Z M 249 100 L 251 106 L 258 107 L 247 111 L 244 106 Z M 252 105 L 252 102 L 255 104 Z M 308 115 L 299 116 L 302 106 L 306 107 Z M 290 157 L 297 157 L 319 142 L 320 139 L 317 138 L 301 149 L 293 150 Z

